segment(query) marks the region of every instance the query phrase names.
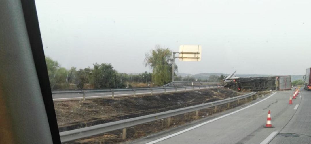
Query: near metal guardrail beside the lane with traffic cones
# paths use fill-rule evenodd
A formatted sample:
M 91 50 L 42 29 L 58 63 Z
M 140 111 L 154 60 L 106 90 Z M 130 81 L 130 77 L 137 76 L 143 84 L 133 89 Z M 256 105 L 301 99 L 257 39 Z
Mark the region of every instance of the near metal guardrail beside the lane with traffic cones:
M 199 105 L 195 105 L 191 107 L 184 107 L 184 108 L 179 108 L 179 109 L 175 109 L 171 111 L 164 111 L 164 112 L 155 113 L 151 115 L 139 116 L 139 117 L 135 117 L 131 119 L 119 120 L 119 121 L 110 122 L 106 124 L 99 124 L 99 125 L 94 125 L 90 127 L 64 131 L 64 132 L 60 132 L 59 135 L 61 137 L 61 142 L 68 142 L 68 141 L 72 141 L 75 139 L 89 137 L 89 136 L 97 135 L 100 133 L 106 133 L 106 132 L 113 131 L 113 130 L 125 129 L 125 128 L 138 125 L 138 124 L 144 124 L 144 123 L 148 123 L 151 121 L 156 121 L 156 120 L 160 120 L 164 118 L 170 118 L 172 116 L 177 116 L 177 115 L 188 113 L 188 112 L 198 111 L 198 110 L 209 108 L 209 107 L 215 107 L 221 104 L 234 102 L 239 99 L 248 98 L 250 96 L 253 96 L 254 94 L 256 94 L 256 92 L 251 92 L 251 93 L 237 96 L 234 98 L 227 98 L 227 99 L 223 99 L 223 100 L 219 100 L 215 102 L 203 103 L 203 104 L 199 104 Z

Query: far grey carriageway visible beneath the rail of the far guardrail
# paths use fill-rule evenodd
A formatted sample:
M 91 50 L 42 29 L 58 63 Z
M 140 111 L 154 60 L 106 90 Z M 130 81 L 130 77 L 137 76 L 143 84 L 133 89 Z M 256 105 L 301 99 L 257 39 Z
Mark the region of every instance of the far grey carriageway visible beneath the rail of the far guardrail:
M 211 86 L 212 88 L 213 86 Z M 215 86 L 216 87 L 216 86 Z M 208 89 L 209 86 L 207 85 L 206 88 Z M 194 89 L 199 89 L 198 86 L 194 86 Z M 204 89 L 204 86 L 200 86 L 200 89 Z M 177 91 L 184 91 L 185 88 L 177 88 Z M 192 90 L 192 87 L 187 87 L 186 90 Z M 174 87 L 167 87 L 166 92 L 174 92 Z M 154 89 L 153 93 L 164 93 L 164 89 Z M 151 90 L 136 90 L 136 94 L 151 94 Z M 129 89 L 129 91 L 114 91 L 114 97 L 118 96 L 131 96 L 133 95 L 133 91 Z M 74 99 L 81 99 L 83 98 L 82 93 L 61 93 L 61 94 L 52 94 L 54 101 L 61 101 L 61 100 L 74 100 Z M 86 99 L 88 98 L 109 98 L 112 97 L 112 93 L 109 91 L 106 92 L 88 92 L 85 95 Z

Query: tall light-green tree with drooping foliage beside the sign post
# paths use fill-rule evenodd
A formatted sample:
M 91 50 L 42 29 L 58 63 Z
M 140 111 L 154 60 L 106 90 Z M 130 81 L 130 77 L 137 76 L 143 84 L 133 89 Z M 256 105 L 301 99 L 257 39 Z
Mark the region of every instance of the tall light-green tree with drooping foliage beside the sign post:
M 155 50 L 145 55 L 145 64 L 152 69 L 152 82 L 156 85 L 165 85 L 172 77 L 172 51 L 156 45 Z M 177 66 L 175 66 L 177 72 Z M 174 72 L 174 73 L 175 73 Z

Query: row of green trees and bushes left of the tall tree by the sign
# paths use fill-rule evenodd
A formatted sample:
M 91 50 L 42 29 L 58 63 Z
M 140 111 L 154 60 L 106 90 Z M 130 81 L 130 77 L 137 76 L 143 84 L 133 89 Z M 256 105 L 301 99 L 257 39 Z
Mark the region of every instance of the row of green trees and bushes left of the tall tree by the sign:
M 51 59 L 45 57 L 49 81 L 52 90 L 57 89 L 109 89 L 126 88 L 127 83 L 132 87 L 133 83 L 151 83 L 150 72 L 127 74 L 119 73 L 110 63 L 94 63 L 93 67 L 75 67 L 66 69 Z

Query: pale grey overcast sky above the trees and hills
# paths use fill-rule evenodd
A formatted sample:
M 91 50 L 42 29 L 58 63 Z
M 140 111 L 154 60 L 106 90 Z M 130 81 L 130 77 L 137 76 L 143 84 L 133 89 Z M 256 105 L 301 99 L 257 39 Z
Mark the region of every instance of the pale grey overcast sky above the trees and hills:
M 36 0 L 45 55 L 63 67 L 111 63 L 150 72 L 155 45 L 201 45 L 179 73 L 304 75 L 311 67 L 310 0 Z

